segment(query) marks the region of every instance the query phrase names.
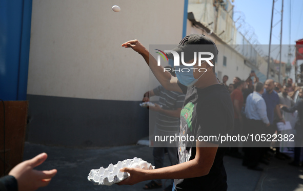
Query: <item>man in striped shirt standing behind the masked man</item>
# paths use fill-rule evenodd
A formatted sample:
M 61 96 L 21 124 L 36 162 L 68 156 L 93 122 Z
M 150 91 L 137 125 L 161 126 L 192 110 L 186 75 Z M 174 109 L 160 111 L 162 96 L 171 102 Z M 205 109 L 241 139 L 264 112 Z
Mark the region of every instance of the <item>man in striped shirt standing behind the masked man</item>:
M 170 73 L 175 76 L 175 73 L 172 72 L 171 67 Z M 149 107 L 150 110 L 158 112 L 156 119 L 154 136 L 174 136 L 179 133 L 179 124 L 180 124 L 180 112 L 184 103 L 185 94 L 179 92 L 173 92 L 166 90 L 163 86 L 158 86 L 157 88 L 148 91 L 144 94 L 143 102 L 148 102 L 149 98 L 152 96 L 159 96 L 159 104 L 155 103 L 155 107 Z M 161 105 L 162 107 L 160 107 Z M 159 144 L 159 145 L 157 145 Z M 165 149 L 168 151 L 169 160 L 171 165 L 177 164 L 177 148 L 165 147 L 166 145 L 161 143 L 156 143 L 154 147 L 153 156 L 154 156 L 154 165 L 156 168 L 164 167 L 164 153 Z M 171 185 L 165 188 L 164 190 L 172 190 L 173 180 Z M 161 187 L 161 180 L 152 180 L 145 185 L 144 189 L 152 189 Z

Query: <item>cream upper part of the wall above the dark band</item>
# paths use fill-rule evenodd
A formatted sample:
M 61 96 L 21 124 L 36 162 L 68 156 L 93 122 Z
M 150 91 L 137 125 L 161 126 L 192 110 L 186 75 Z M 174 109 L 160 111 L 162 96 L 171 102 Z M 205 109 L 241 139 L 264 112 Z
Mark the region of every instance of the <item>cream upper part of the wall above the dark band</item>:
M 183 9 L 183 0 L 33 0 L 27 93 L 141 100 L 149 69 L 121 45 L 177 44 Z

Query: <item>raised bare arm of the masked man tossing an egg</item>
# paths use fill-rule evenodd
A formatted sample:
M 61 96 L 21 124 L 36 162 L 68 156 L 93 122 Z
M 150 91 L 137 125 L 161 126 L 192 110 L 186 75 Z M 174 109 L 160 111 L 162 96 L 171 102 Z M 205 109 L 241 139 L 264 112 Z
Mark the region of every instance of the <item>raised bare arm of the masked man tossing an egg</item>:
M 139 42 L 139 40 L 130 40 L 122 44 L 122 47 L 132 48 L 139 53 L 145 59 L 147 65 L 161 83 L 161 85 L 170 91 L 182 92 L 178 86 L 177 78 L 173 77 L 168 71 L 164 71 L 164 68 L 157 66 L 156 59 L 149 53 L 149 51 Z

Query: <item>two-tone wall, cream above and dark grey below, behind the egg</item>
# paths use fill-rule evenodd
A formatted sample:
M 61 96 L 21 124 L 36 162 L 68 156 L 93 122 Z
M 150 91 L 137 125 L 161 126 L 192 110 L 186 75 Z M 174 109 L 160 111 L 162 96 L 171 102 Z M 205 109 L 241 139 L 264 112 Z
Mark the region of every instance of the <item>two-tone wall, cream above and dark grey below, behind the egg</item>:
M 147 136 L 148 111 L 138 103 L 156 84 L 144 59 L 121 45 L 178 43 L 183 9 L 181 0 L 33 0 L 27 140 L 108 146 Z M 125 140 L 113 138 L 120 131 Z

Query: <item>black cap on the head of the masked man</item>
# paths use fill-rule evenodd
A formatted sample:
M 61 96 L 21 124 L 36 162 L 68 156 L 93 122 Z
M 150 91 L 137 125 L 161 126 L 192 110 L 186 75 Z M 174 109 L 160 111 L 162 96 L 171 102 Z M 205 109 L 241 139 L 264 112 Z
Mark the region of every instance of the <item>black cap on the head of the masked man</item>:
M 204 34 L 190 34 L 184 37 L 179 45 L 173 49 L 176 51 L 180 58 L 181 52 L 184 52 L 184 61 L 189 61 L 194 58 L 194 52 L 211 52 L 214 55 L 212 59 L 213 62 L 216 60 L 218 55 L 218 49 L 209 37 L 204 36 Z M 166 53 L 167 57 L 173 59 L 173 54 L 168 52 Z M 197 54 L 198 55 L 198 54 Z M 209 57 L 209 55 L 205 55 L 205 57 Z

